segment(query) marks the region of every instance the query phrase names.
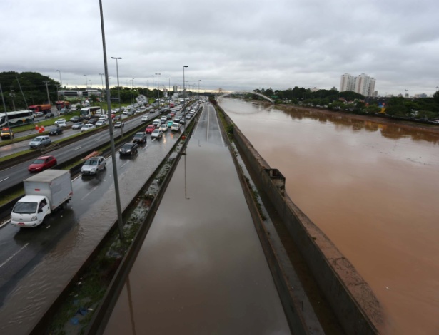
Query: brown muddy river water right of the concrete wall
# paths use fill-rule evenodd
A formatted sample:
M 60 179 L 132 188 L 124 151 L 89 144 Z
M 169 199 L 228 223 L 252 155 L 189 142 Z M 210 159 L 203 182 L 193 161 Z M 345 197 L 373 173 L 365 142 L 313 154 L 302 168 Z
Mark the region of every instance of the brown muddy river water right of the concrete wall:
M 370 284 L 388 334 L 439 334 L 439 135 L 393 125 L 221 107 Z

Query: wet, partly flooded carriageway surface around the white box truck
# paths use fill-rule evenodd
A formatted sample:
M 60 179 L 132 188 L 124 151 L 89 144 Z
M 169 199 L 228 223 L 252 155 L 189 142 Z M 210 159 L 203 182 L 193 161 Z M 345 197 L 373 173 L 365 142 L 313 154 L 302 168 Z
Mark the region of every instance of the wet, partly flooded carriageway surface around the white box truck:
M 138 155 L 132 158 L 116 157 L 122 208 L 128 205 L 141 185 L 151 177 L 176 140 L 176 134 L 171 133 L 164 135 L 161 140 L 148 138 L 147 145 L 141 147 Z M 30 229 L 29 233 L 25 231 L 26 234 L 11 225 L 0 230 L 1 244 L 9 241 L 12 246 L 8 247 L 10 254 L 2 254 L 1 263 L 29 243 L 3 267 L 9 280 L 0 289 L 0 297 L 4 302 L 0 309 L 0 330 L 18 331 L 21 326 L 25 327 L 26 322 L 23 320 L 37 318 L 39 311 L 46 309 L 56 299 L 66 282 L 116 220 L 111 164 L 111 159 L 107 160 L 106 171 L 96 177 L 78 177 L 74 180 L 74 196 L 69 205 L 73 215 L 66 215 L 66 211 L 62 210 L 55 212 L 48 220 L 48 227 L 44 225 L 36 230 Z M 44 232 L 41 237 L 44 241 L 33 238 L 32 231 Z M 34 257 L 26 254 L 21 263 L 19 254 L 25 255 L 23 252 L 28 250 L 36 252 Z

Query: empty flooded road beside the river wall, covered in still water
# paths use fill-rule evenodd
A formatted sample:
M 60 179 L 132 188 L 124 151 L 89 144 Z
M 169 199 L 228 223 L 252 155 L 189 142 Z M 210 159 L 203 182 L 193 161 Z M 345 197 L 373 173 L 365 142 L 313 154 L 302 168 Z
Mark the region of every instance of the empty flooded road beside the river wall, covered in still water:
M 200 115 L 105 334 L 290 334 L 211 105 Z

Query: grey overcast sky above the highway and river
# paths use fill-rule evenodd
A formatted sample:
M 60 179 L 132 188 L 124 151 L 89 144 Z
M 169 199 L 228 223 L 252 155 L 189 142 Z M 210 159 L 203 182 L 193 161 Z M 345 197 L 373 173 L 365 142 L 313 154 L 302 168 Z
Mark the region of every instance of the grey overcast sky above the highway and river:
M 439 86 L 438 0 L 102 2 L 110 86 L 110 57 L 121 86 L 181 86 L 183 66 L 196 91 L 339 89 L 346 72 L 382 96 Z M 1 0 L 0 29 L 0 71 L 101 88 L 99 0 Z

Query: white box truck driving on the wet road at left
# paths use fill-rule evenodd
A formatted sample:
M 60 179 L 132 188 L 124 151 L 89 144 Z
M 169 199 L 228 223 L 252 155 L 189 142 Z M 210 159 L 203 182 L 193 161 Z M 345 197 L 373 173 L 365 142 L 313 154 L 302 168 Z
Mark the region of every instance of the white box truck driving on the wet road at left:
M 47 215 L 71 200 L 73 189 L 69 170 L 44 170 L 23 180 L 25 196 L 11 212 L 11 225 L 36 227 Z

